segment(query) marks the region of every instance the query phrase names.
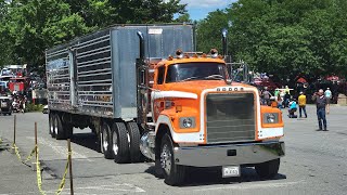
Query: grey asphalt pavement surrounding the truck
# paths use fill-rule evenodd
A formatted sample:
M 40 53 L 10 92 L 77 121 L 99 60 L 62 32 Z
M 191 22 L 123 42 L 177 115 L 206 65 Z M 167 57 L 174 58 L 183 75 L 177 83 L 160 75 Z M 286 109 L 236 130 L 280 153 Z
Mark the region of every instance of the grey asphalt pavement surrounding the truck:
M 90 131 L 75 129 L 72 144 L 75 194 L 346 194 L 347 106 L 331 107 L 327 132 L 317 131 L 316 108 L 307 109 L 307 119 L 290 119 L 284 115 L 286 156 L 273 180 L 260 180 L 252 168 L 242 169 L 242 177 L 233 179 L 222 179 L 215 169 L 194 169 L 185 185 L 168 186 L 154 176 L 153 162 L 117 165 L 104 159 L 97 152 Z M 34 147 L 34 122 L 38 122 L 39 159 L 44 167 L 42 188 L 54 194 L 64 173 L 67 143 L 50 138 L 48 115 L 16 116 L 16 144 L 23 155 Z M 0 116 L 0 136 L 13 141 L 13 117 Z M 0 178 L 0 186 L 5 182 Z M 36 180 L 22 181 L 10 194 L 38 194 L 33 190 L 35 186 Z M 4 194 L 1 191 L 0 195 Z M 68 180 L 62 194 L 69 194 Z

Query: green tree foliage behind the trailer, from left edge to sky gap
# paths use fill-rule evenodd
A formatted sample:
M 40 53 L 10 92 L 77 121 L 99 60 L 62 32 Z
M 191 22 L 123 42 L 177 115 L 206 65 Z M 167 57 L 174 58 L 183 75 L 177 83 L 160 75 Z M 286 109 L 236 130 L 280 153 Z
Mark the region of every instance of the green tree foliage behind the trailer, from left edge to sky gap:
M 113 24 L 171 23 L 185 13 L 180 0 L 0 0 L 0 66 L 42 67 L 46 49 L 75 37 Z

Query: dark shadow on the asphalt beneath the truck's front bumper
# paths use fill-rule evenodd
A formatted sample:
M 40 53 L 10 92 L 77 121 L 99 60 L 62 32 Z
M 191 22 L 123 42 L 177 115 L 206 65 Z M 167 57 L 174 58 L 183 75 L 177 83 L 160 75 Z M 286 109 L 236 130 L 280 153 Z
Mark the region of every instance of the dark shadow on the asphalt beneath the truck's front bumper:
M 155 172 L 155 167 L 152 166 L 145 172 L 155 176 L 158 179 L 163 179 L 163 177 L 157 176 Z M 245 182 L 258 182 L 264 181 L 264 179 L 259 178 L 254 168 L 241 168 L 241 177 L 240 178 L 222 178 L 221 177 L 221 168 L 213 167 L 213 168 L 189 168 L 188 178 L 185 179 L 184 186 L 201 186 L 201 185 L 215 185 L 215 184 L 231 184 L 231 183 L 245 183 Z M 285 174 L 279 173 L 273 179 L 268 180 L 283 180 L 286 179 Z

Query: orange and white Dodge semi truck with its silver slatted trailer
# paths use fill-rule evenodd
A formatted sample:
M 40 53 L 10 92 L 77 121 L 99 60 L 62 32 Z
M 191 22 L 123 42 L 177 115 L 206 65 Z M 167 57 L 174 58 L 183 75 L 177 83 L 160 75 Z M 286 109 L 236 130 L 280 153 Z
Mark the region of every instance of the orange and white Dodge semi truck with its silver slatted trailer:
M 281 110 L 232 81 L 216 50 L 194 47 L 191 25 L 123 25 L 48 50 L 50 134 L 90 128 L 105 158 L 152 159 L 169 185 L 182 184 L 189 167 L 274 177 L 284 156 Z

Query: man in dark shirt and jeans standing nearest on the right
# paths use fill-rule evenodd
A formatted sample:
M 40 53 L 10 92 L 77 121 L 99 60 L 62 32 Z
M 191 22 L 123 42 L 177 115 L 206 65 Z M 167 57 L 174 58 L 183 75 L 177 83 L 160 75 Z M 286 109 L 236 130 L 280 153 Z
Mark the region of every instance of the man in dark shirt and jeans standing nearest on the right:
M 316 102 L 319 130 L 321 131 L 324 127 L 324 131 L 327 131 L 326 117 L 325 117 L 327 101 L 326 101 L 326 98 L 324 96 L 324 91 L 320 89 L 318 92 L 316 92 L 312 96 L 312 101 Z M 329 110 L 326 110 L 326 114 L 329 114 Z M 323 121 L 323 127 L 322 127 L 322 121 Z

